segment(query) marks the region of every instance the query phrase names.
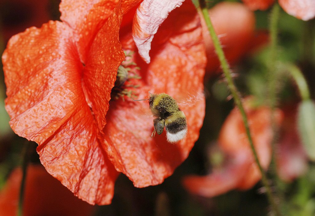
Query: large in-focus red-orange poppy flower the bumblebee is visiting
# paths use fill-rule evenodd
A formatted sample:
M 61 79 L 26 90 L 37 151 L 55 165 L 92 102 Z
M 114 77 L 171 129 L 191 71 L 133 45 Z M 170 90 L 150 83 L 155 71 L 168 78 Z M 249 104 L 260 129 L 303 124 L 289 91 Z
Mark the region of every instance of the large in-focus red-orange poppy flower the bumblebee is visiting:
M 162 183 L 186 159 L 203 123 L 206 59 L 194 6 L 187 2 L 169 14 L 152 41 L 151 63 L 145 64 L 129 19 L 137 3 L 62 1 L 63 22 L 13 36 L 2 57 L 12 129 L 36 141 L 47 171 L 91 204 L 111 202 L 119 172 L 137 187 Z M 164 133 L 150 137 L 147 102 L 111 100 L 125 58 L 122 47 L 135 52 L 129 61 L 141 68 L 134 68 L 141 79 L 128 80 L 134 87 L 122 83 L 124 88 L 139 99 L 150 91 L 190 100 L 181 106 L 188 133 L 177 144 L 169 144 Z

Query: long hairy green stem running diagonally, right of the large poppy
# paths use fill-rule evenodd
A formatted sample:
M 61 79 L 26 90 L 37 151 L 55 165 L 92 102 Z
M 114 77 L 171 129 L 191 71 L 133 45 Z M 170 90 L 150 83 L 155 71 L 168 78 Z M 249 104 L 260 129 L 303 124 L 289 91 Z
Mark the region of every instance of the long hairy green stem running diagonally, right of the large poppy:
M 251 150 L 252 150 L 252 152 L 254 154 L 255 161 L 256 161 L 256 163 L 258 165 L 258 168 L 259 168 L 259 170 L 261 172 L 261 180 L 262 180 L 262 183 L 263 183 L 263 185 L 265 187 L 268 200 L 269 200 L 269 202 L 270 202 L 270 204 L 272 206 L 272 209 L 273 209 L 274 213 L 277 216 L 280 216 L 281 213 L 280 213 L 280 211 L 278 209 L 278 206 L 277 206 L 277 203 L 276 203 L 276 201 L 275 201 L 275 199 L 274 199 L 274 197 L 272 195 L 271 188 L 270 188 L 270 186 L 268 184 L 268 180 L 267 180 L 267 177 L 266 177 L 266 173 L 263 170 L 263 168 L 262 168 L 262 166 L 261 166 L 261 164 L 259 162 L 259 159 L 258 159 L 258 156 L 257 156 L 257 152 L 255 150 L 254 143 L 253 143 L 252 137 L 250 135 L 250 130 L 249 130 L 249 124 L 248 124 L 247 116 L 246 116 L 246 113 L 244 111 L 243 104 L 241 102 L 241 98 L 239 96 L 238 90 L 237 90 L 236 86 L 234 85 L 234 82 L 233 82 L 233 79 L 232 79 L 231 69 L 229 67 L 229 64 L 227 63 L 227 60 L 226 60 L 225 55 L 223 53 L 223 50 L 222 50 L 219 38 L 216 35 L 214 27 L 213 27 L 213 25 L 211 23 L 211 20 L 209 18 L 208 9 L 205 7 L 203 1 L 201 1 L 199 3 L 201 5 L 201 8 L 198 8 L 198 10 L 201 10 L 201 12 L 203 14 L 203 17 L 204 17 L 204 20 L 205 20 L 205 22 L 207 24 L 210 36 L 211 36 L 211 38 L 213 40 L 215 51 L 216 51 L 216 53 L 218 55 L 218 58 L 220 60 L 221 66 L 222 66 L 223 73 L 224 73 L 224 75 L 226 77 L 228 88 L 230 89 L 230 91 L 232 93 L 232 96 L 234 98 L 234 102 L 236 103 L 238 109 L 241 112 L 241 115 L 242 115 L 242 118 L 243 118 L 243 122 L 244 122 L 244 126 L 245 126 L 245 130 L 246 130 L 246 134 L 247 134 L 247 137 L 248 137 L 248 140 L 249 140 L 249 144 L 250 144 Z

